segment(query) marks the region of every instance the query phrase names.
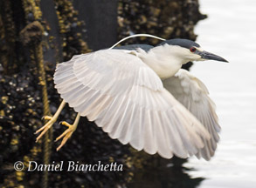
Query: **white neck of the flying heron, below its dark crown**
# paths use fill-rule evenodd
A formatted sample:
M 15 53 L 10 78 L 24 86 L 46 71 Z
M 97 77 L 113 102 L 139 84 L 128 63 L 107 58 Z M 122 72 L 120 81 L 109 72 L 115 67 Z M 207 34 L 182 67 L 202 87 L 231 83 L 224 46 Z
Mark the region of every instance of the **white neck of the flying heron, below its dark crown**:
M 139 57 L 162 79 L 172 77 L 186 62 L 175 56 L 175 49 L 170 46 L 157 46 L 149 52 L 141 53 Z

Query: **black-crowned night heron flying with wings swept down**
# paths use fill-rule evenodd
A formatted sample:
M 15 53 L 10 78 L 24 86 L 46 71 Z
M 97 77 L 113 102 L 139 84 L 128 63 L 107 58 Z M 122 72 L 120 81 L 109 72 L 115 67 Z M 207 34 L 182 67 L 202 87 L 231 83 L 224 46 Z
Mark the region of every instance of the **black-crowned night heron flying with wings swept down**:
M 138 36 L 152 37 L 133 37 Z M 138 151 L 209 160 L 220 131 L 215 105 L 205 85 L 181 67 L 189 61 L 227 61 L 187 39 L 164 40 L 156 47 L 114 46 L 58 64 L 54 83 L 63 102 L 53 117 L 45 117 L 49 122 L 36 132 L 41 132 L 37 141 L 68 103 L 78 115 L 73 124 L 62 122 L 68 129 L 56 139 L 64 137 L 57 150 L 82 116 Z

